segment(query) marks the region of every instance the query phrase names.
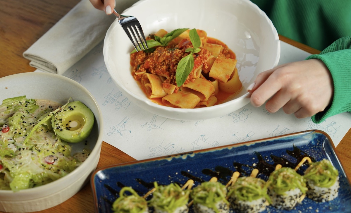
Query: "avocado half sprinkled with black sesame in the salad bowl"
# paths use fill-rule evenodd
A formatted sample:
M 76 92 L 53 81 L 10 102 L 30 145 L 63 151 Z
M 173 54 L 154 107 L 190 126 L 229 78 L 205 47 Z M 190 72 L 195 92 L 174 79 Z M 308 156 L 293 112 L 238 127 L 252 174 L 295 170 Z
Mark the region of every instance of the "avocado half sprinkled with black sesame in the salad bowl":
M 94 125 L 94 114 L 80 101 L 68 103 L 51 118 L 53 131 L 61 140 L 78 143 L 86 139 Z

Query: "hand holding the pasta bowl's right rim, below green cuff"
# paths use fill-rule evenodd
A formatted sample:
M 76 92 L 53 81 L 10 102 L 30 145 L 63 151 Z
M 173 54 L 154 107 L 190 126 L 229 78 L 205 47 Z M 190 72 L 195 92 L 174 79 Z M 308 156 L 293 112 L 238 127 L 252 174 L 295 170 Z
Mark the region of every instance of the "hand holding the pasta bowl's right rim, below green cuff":
M 297 61 L 260 73 L 247 88 L 251 104 L 266 102 L 270 113 L 283 108 L 296 118 L 310 117 L 331 103 L 334 87 L 329 69 L 319 59 Z

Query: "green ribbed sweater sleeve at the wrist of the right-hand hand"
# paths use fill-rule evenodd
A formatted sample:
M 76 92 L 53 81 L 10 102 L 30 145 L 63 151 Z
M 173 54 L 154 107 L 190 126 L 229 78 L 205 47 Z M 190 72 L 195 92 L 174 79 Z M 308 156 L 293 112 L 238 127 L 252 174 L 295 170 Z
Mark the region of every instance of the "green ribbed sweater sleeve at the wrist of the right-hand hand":
M 308 59 L 320 59 L 329 69 L 334 84 L 332 103 L 323 112 L 312 116 L 314 123 L 342 112 L 351 112 L 351 36 L 340 38 Z

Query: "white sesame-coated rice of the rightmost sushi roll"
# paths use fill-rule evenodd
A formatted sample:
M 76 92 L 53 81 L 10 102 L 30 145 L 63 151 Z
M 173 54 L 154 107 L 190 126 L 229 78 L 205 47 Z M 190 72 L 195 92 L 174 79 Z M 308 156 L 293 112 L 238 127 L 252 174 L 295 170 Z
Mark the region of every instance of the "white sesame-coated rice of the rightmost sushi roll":
M 307 187 L 309 190 L 306 192 L 307 197 L 318 202 L 326 202 L 334 200 L 339 194 L 339 177 L 335 183 L 329 187 L 319 187 L 313 184 L 313 181 L 307 181 Z

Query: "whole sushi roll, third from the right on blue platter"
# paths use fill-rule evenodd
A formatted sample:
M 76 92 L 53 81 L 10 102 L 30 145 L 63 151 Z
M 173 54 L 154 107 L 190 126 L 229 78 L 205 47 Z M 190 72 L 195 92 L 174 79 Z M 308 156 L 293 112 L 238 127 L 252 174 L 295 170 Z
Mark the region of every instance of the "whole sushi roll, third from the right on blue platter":
M 240 177 L 228 188 L 228 200 L 236 212 L 262 212 L 269 205 L 266 182 L 256 177 Z

